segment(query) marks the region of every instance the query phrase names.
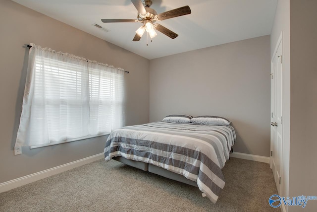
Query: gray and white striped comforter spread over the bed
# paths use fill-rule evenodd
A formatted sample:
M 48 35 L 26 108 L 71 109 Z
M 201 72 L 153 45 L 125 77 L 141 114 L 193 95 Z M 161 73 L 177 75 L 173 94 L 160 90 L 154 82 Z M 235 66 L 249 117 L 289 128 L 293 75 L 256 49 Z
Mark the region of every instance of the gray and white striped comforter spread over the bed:
M 113 131 L 104 153 L 106 161 L 122 156 L 181 174 L 215 203 L 225 184 L 221 169 L 235 140 L 231 126 L 153 122 Z

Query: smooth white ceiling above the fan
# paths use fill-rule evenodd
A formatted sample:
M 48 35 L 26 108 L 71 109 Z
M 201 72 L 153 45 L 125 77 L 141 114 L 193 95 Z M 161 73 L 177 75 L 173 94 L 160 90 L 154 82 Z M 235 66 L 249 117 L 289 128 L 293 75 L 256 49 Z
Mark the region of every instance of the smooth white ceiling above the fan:
M 112 44 L 154 59 L 271 33 L 277 0 L 152 0 L 158 13 L 189 5 L 192 13 L 159 24 L 177 33 L 158 32 L 133 42 L 141 23 L 103 23 L 102 18 L 137 18 L 130 0 L 13 0 Z M 143 1 L 143 0 L 142 0 Z M 93 26 L 103 26 L 108 32 Z

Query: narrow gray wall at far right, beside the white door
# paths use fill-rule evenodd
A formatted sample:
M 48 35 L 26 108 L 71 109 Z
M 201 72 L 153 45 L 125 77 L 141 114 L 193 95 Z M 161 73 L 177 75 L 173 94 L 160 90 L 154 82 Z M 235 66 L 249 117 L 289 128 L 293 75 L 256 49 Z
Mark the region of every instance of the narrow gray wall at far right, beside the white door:
M 290 197 L 317 196 L 317 1 L 290 0 Z M 300 207 L 289 207 L 290 212 Z M 317 200 L 305 211 L 316 211 Z

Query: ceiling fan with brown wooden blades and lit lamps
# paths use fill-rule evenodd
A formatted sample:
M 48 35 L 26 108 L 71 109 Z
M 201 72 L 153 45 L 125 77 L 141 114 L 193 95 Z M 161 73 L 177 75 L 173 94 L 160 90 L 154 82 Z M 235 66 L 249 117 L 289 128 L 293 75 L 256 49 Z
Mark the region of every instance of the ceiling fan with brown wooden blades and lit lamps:
M 143 3 L 141 0 L 131 0 L 135 8 L 138 10 L 138 19 L 101 19 L 104 23 L 118 23 L 118 22 L 134 22 L 134 23 L 143 23 L 143 25 L 136 31 L 136 34 L 133 38 L 133 41 L 139 41 L 147 31 L 151 38 L 157 36 L 155 31 L 158 30 L 159 32 L 167 35 L 171 39 L 174 39 L 178 36 L 175 32 L 167 29 L 166 27 L 156 23 L 156 21 L 161 21 L 173 17 L 178 17 L 182 15 L 187 15 L 191 13 L 189 6 L 182 6 L 177 9 L 172 9 L 166 12 L 157 13 L 154 9 L 150 8 L 152 5 L 151 0 L 144 0 Z

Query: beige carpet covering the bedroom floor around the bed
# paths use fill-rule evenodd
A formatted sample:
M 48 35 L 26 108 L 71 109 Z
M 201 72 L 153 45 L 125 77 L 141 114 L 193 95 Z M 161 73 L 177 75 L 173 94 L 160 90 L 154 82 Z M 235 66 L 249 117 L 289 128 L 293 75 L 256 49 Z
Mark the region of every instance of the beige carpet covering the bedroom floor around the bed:
M 0 212 L 270 212 L 277 194 L 266 163 L 231 158 L 216 204 L 197 187 L 99 160 L 0 194 Z

